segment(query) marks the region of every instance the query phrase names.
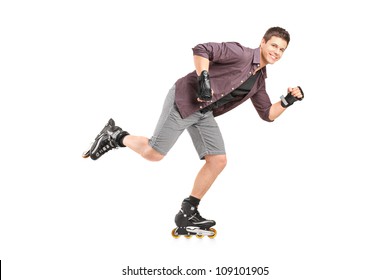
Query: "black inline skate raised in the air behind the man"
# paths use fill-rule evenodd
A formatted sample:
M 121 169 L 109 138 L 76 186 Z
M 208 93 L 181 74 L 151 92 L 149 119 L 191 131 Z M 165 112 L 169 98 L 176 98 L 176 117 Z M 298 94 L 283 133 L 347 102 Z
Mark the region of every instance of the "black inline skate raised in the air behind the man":
M 91 143 L 89 149 L 83 153 L 82 157 L 91 157 L 91 159 L 97 160 L 112 149 L 125 147 L 121 143 L 121 140 L 126 135 L 129 135 L 129 133 L 123 131 L 119 126 L 115 126 L 114 120 L 109 119 L 102 131 L 96 136 L 95 141 Z

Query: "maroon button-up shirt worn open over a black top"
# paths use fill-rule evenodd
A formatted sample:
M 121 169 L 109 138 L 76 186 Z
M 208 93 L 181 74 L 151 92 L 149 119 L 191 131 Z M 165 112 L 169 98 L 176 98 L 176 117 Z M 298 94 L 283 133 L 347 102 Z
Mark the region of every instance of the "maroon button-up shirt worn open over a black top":
M 193 54 L 210 60 L 209 75 L 213 98 L 211 101 L 198 102 L 198 81 L 196 71 L 176 82 L 175 103 L 182 118 L 199 111 L 231 93 L 244 83 L 260 66 L 260 48 L 250 49 L 235 42 L 205 43 L 195 46 Z M 237 96 L 231 102 L 213 109 L 215 117 L 222 115 L 248 99 L 251 99 L 259 116 L 269 119 L 271 101 L 265 89 L 266 67 L 257 78 L 251 91 L 244 96 Z

